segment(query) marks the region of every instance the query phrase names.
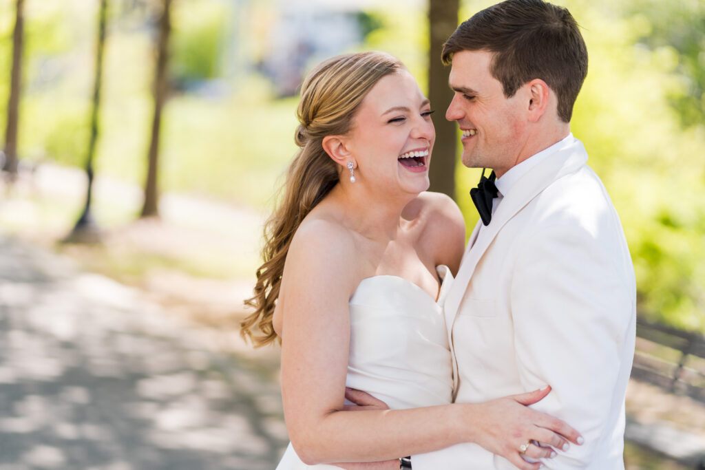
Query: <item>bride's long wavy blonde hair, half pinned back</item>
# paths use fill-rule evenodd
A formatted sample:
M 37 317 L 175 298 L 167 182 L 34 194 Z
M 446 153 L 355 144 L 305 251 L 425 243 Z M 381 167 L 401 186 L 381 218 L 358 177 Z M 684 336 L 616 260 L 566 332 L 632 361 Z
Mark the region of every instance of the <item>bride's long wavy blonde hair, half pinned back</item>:
M 284 261 L 301 221 L 338 184 L 342 167 L 323 149 L 326 135 L 345 135 L 362 100 L 382 77 L 404 69 L 383 52 L 344 54 L 314 68 L 301 85 L 295 142 L 300 150 L 286 175 L 283 199 L 264 225 L 264 263 L 257 269 L 254 296 L 245 304 L 255 311 L 240 323 L 240 335 L 256 347 L 277 338 L 272 315 L 281 286 Z M 257 326 L 262 335 L 255 335 Z

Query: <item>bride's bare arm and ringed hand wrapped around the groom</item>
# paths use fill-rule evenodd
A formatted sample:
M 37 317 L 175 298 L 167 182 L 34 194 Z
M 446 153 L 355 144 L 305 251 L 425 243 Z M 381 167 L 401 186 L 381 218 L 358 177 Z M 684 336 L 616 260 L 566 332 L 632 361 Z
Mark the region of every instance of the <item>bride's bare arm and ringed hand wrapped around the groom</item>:
M 544 428 L 568 435 L 565 430 L 570 428 L 565 423 L 518 404 L 503 414 L 495 412 L 492 419 L 487 419 L 483 404 L 343 411 L 350 338 L 348 300 L 359 283 L 357 263 L 347 231 L 322 221 L 302 225 L 287 255 L 282 282 L 286 296 L 282 397 L 290 440 L 305 463 L 376 462 L 461 442 L 477 443 L 486 433 L 496 433 L 502 422 L 507 423 L 502 435 L 507 439 L 518 442 L 526 436 L 561 445 L 558 435 Z M 539 417 L 546 421 L 541 433 L 527 435 Z M 512 436 L 518 431 L 523 434 Z

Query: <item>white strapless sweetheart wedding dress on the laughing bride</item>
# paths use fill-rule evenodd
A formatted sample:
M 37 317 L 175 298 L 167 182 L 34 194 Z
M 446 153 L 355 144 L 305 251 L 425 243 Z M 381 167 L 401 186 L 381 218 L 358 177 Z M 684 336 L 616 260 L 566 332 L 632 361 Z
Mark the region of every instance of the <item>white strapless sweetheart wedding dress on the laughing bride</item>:
M 398 276 L 365 278 L 350 297 L 350 357 L 345 385 L 364 390 L 391 409 L 450 403 L 452 363 L 443 299 L 453 281 L 447 266 L 439 299 Z M 329 469 L 301 462 L 291 444 L 276 470 Z

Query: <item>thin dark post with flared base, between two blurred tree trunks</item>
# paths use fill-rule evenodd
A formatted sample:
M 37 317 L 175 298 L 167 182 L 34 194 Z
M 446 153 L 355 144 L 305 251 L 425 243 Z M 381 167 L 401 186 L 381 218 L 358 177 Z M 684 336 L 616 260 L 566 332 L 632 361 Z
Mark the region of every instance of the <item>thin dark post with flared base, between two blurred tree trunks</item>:
M 95 76 L 93 82 L 93 106 L 90 116 L 90 137 L 88 140 L 88 155 L 86 158 L 86 175 L 88 187 L 86 190 L 85 206 L 83 213 L 73 227 L 73 231 L 64 239 L 65 242 L 97 242 L 99 241 L 98 229 L 93 221 L 90 204 L 93 194 L 93 159 L 95 144 L 98 140 L 99 123 L 98 111 L 100 109 L 100 92 L 103 81 L 103 51 L 105 49 L 105 29 L 108 12 L 108 0 L 100 0 L 98 11 L 98 38 L 95 53 Z

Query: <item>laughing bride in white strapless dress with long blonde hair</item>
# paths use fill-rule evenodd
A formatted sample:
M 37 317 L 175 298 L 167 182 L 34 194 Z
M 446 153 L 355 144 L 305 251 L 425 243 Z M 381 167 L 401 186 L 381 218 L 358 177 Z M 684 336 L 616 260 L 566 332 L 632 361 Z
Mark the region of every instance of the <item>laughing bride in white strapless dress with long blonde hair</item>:
M 450 198 L 426 192 L 431 113 L 405 66 L 381 52 L 333 57 L 302 85 L 300 151 L 267 224 L 255 312 L 242 323 L 257 345 L 281 340 L 291 444 L 278 469 L 398 469 L 400 457 L 465 442 L 538 469 L 522 443 L 577 443 L 577 431 L 526 406 L 550 388 L 450 403 L 441 305 L 465 225 Z M 381 402 L 350 406 L 346 387 Z M 555 454 L 529 449 L 532 459 Z

